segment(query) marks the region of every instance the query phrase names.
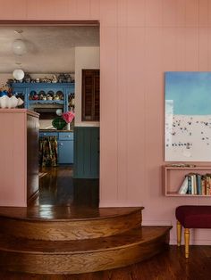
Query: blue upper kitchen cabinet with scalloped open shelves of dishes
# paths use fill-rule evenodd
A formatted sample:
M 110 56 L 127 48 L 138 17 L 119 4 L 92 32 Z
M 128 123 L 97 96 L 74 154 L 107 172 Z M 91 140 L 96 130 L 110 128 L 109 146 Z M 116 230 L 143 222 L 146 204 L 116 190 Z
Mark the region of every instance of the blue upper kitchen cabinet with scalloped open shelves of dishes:
M 32 109 L 36 104 L 61 104 L 63 111 L 74 107 L 74 83 L 13 83 L 13 92 Z

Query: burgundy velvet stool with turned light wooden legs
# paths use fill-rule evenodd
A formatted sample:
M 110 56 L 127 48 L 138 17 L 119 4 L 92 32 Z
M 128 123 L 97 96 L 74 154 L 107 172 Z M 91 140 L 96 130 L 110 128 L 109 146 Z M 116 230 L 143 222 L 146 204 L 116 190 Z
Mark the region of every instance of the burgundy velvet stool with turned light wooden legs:
M 177 245 L 181 245 L 181 227 L 184 227 L 185 258 L 189 258 L 190 228 L 211 228 L 211 206 L 183 205 L 176 208 Z

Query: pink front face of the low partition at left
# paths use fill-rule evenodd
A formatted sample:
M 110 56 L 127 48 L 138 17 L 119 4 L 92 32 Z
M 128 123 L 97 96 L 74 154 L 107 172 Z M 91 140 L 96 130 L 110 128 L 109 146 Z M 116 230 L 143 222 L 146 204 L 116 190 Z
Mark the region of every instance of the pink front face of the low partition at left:
M 0 205 L 27 206 L 26 116 L 0 109 L 0 119 Z

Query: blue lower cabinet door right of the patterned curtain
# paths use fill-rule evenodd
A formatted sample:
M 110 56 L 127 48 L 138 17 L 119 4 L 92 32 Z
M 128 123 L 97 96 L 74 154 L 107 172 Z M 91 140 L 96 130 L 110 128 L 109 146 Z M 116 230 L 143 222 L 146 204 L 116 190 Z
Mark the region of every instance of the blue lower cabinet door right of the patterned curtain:
M 58 141 L 58 163 L 73 163 L 73 140 Z

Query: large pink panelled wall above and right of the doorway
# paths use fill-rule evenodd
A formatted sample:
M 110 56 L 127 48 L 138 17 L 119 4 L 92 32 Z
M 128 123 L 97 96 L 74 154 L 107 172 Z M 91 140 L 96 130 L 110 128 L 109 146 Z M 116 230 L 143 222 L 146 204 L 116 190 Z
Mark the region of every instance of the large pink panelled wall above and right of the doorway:
M 2 20 L 99 20 L 100 206 L 143 205 L 145 225 L 175 223 L 162 194 L 165 71 L 211 70 L 211 0 L 0 0 Z M 206 230 L 194 243 L 211 243 Z M 175 229 L 171 235 L 175 241 Z

